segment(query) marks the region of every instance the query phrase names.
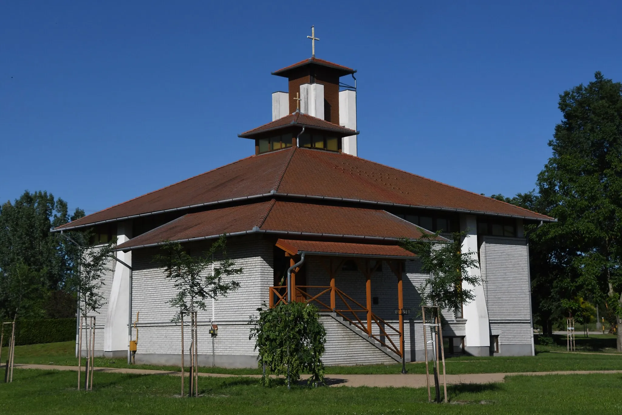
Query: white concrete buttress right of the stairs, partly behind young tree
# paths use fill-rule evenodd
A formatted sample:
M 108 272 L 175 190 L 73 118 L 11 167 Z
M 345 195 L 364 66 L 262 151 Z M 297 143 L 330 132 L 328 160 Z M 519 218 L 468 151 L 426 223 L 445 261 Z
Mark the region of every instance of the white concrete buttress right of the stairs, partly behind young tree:
M 472 252 L 473 258 L 477 259 L 477 217 L 475 215 L 460 215 L 460 230 L 466 231 L 462 241 L 462 251 Z M 477 276 L 481 280 L 481 268 L 469 269 L 471 276 Z M 488 307 L 483 283 L 472 286 L 462 283 L 463 289 L 473 290 L 475 299 L 463 305 L 463 317 L 465 324 L 465 349 L 467 353 L 475 356 L 490 355 L 490 321 L 488 320 Z

